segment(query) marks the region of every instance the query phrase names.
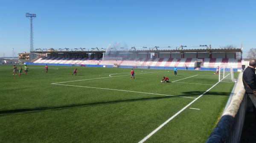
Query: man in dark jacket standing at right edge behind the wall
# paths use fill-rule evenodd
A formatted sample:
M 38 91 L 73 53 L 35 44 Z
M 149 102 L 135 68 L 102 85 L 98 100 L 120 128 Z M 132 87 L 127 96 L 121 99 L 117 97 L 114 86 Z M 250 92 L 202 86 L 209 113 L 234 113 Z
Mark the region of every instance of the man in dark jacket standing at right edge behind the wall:
M 247 95 L 253 102 L 253 111 L 256 115 L 256 96 L 253 91 L 256 90 L 256 74 L 255 74 L 256 60 L 252 59 L 249 62 L 249 66 L 244 70 L 243 73 L 243 84 Z M 249 86 L 249 87 L 248 87 Z

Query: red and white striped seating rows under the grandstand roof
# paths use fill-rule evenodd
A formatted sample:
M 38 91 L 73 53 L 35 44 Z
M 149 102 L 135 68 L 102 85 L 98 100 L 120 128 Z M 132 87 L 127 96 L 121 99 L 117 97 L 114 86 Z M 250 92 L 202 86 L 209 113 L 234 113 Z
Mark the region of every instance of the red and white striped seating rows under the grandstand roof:
M 180 67 L 183 69 L 185 65 L 192 70 L 195 66 L 195 62 L 201 61 L 201 68 L 204 70 L 215 70 L 215 68 L 224 64 L 226 67 L 233 67 L 234 69 L 241 68 L 241 60 L 233 58 L 136 58 L 136 59 L 124 59 L 124 60 L 103 60 L 102 59 L 88 59 L 88 58 L 39 58 L 34 63 L 41 64 L 88 64 L 88 65 L 113 65 L 119 66 L 152 66 L 152 67 Z M 210 68 L 210 69 L 209 69 Z

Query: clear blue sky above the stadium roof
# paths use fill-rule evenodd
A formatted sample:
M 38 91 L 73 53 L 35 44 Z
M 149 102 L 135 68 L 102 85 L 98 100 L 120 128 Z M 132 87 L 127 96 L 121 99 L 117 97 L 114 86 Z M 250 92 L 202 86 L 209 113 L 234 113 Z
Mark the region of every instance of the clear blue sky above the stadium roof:
M 35 48 L 241 43 L 256 48 L 255 0 L 0 0 L 0 57 Z

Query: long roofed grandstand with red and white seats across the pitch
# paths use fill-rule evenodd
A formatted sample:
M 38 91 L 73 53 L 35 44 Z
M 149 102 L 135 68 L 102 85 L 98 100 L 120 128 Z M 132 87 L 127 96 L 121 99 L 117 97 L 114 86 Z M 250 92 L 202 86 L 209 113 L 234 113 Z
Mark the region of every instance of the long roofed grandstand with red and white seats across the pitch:
M 101 48 L 103 49 L 103 48 Z M 39 56 L 28 64 L 77 65 L 89 67 L 124 67 L 124 68 L 155 68 L 178 69 L 188 67 L 188 70 L 215 70 L 220 64 L 233 67 L 234 71 L 241 70 L 242 48 L 205 48 L 178 49 L 170 48 L 135 48 L 130 50 L 111 49 L 69 50 L 37 49 L 31 51 Z M 108 56 L 108 58 L 104 58 Z

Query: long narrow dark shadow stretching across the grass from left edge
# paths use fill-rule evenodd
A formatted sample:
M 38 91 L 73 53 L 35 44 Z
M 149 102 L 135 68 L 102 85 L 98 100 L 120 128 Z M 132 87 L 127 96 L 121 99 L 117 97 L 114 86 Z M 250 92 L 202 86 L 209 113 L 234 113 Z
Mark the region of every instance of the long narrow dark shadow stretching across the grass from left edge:
M 15 113 L 33 113 L 33 112 L 41 112 L 47 110 L 59 110 L 59 109 L 69 109 L 75 107 L 89 107 L 89 106 L 99 106 L 106 104 L 119 104 L 122 102 L 136 102 L 136 101 L 148 101 L 148 100 L 157 100 L 157 99 L 165 99 L 165 98 L 179 98 L 177 96 L 196 96 L 201 95 L 204 92 L 202 91 L 192 91 L 192 92 L 183 92 L 183 95 L 175 95 L 175 96 L 160 96 L 160 97 L 150 97 L 150 98 L 134 98 L 134 99 L 121 99 L 114 101 L 102 101 L 102 102 L 93 102 L 93 103 L 84 103 L 84 104 L 70 104 L 70 105 L 61 105 L 61 106 L 51 106 L 51 107 L 37 107 L 37 108 L 25 108 L 25 109 L 10 109 L 10 110 L 2 110 L 0 111 L 0 116 L 11 115 Z M 207 92 L 206 95 L 226 95 L 229 96 L 230 93 L 227 92 Z

